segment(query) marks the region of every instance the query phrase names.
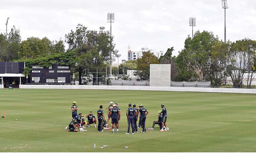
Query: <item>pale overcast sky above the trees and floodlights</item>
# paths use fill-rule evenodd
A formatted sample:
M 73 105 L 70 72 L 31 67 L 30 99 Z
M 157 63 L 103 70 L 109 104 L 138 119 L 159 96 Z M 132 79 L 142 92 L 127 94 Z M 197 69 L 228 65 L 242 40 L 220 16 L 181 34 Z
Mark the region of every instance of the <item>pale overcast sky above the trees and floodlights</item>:
M 256 1 L 228 0 L 227 40 L 256 40 Z M 1 0 L 0 33 L 13 25 L 21 39 L 48 37 L 65 40 L 65 34 L 83 24 L 90 30 L 110 30 L 107 13 L 115 13 L 112 23 L 114 43 L 121 59 L 127 60 L 127 47 L 139 51 L 148 47 L 166 52 L 174 47 L 178 55 L 192 34 L 189 17 L 196 17 L 196 30 L 212 31 L 224 40 L 224 9 L 221 0 Z M 67 48 L 67 44 L 65 44 Z

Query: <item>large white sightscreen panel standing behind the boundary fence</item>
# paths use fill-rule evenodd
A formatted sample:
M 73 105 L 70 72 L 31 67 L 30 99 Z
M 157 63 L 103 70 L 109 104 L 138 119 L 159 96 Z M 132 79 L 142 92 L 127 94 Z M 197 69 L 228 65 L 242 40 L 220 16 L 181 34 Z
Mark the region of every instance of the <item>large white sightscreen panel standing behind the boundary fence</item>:
M 150 86 L 171 86 L 171 64 L 150 64 Z

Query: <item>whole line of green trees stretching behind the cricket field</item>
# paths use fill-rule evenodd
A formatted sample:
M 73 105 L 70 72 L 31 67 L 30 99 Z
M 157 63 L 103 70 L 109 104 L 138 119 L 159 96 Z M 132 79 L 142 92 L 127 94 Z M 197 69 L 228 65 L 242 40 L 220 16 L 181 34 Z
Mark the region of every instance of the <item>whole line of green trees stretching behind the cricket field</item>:
M 68 44 L 67 50 L 64 42 Z M 255 40 L 245 38 L 225 43 L 212 32 L 197 31 L 193 39 L 188 36 L 177 57 L 172 56 L 173 50 L 173 47 L 168 48 L 159 59 L 149 51 L 144 52 L 136 61 L 120 63 L 118 68 L 112 67 L 112 74 L 117 76 L 123 72 L 126 74 L 126 70 L 136 70 L 134 75 L 139 76 L 140 80 L 149 80 L 149 65 L 160 63 L 171 64 L 172 81 L 211 81 L 212 86 L 221 86 L 230 76 L 235 87 L 252 85 L 252 78 L 256 74 Z M 23 72 L 26 76 L 30 75 L 30 66 L 33 64 L 44 67 L 52 64 L 70 65 L 71 74 L 75 73 L 79 84 L 83 84 L 88 67 L 91 72 L 107 67 L 109 76 L 110 52 L 114 62 L 118 50 L 109 31 L 87 30 L 81 24 L 77 25 L 75 31 L 67 33 L 65 40 L 30 37 L 21 41 L 20 30 L 15 26 L 8 38 L 0 34 L 0 60 L 26 62 Z M 102 74 L 102 77 L 108 76 Z M 243 79 L 247 80 L 246 84 L 243 84 Z

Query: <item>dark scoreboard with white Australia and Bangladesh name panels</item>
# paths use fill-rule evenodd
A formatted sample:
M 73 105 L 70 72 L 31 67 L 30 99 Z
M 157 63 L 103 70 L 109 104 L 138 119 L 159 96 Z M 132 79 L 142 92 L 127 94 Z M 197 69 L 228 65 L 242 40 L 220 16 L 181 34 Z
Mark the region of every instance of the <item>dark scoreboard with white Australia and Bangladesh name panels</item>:
M 49 68 L 33 65 L 31 84 L 70 84 L 70 66 L 52 65 Z

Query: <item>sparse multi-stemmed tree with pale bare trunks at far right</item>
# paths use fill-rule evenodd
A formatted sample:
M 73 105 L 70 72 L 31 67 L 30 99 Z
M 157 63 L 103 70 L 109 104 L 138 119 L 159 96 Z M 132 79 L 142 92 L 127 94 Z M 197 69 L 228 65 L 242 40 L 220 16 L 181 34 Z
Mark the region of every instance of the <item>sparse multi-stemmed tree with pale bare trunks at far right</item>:
M 233 43 L 222 42 L 214 48 L 215 54 L 218 55 L 224 64 L 225 71 L 231 77 L 234 87 L 242 87 L 245 73 L 252 72 L 255 50 L 255 41 L 250 39 L 238 40 Z M 247 86 L 251 86 L 249 79 L 247 79 Z

